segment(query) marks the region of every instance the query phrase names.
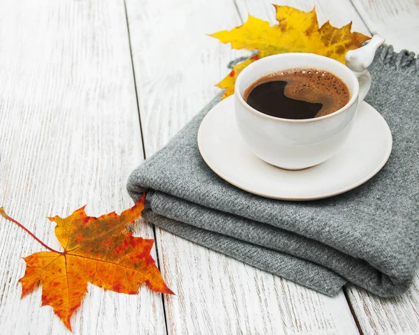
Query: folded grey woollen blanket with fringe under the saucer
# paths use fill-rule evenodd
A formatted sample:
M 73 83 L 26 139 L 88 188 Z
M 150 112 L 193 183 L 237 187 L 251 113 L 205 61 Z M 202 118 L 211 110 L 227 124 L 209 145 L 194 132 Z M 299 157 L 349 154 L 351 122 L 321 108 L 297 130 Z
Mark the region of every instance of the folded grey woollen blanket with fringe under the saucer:
M 405 292 L 419 255 L 419 60 L 381 47 L 365 99 L 390 126 L 388 163 L 367 183 L 311 202 L 262 198 L 216 176 L 198 151 L 200 121 L 217 96 L 128 179 L 143 216 L 198 244 L 327 295 L 346 283 Z M 184 255 L 188 257 L 188 255 Z

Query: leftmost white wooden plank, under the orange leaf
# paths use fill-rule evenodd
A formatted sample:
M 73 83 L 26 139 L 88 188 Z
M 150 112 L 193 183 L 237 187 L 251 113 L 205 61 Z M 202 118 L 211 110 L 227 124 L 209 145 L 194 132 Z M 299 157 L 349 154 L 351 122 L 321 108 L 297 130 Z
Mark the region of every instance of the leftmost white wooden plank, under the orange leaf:
M 126 179 L 143 157 L 124 3 L 4 1 L 0 40 L 0 204 L 59 248 L 45 216 L 132 205 Z M 1 334 L 69 334 L 40 308 L 39 288 L 20 300 L 21 257 L 42 247 L 0 221 Z M 145 224 L 136 232 L 153 237 Z M 128 296 L 89 285 L 72 325 L 75 334 L 166 333 L 161 295 L 145 287 Z

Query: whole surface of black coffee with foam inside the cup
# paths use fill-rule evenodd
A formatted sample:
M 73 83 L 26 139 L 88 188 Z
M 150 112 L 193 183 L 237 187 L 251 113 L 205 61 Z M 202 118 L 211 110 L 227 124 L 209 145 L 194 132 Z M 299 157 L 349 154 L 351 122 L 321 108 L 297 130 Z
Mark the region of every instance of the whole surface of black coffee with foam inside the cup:
M 244 100 L 263 114 L 283 119 L 311 119 L 340 110 L 350 98 L 336 75 L 314 68 L 291 68 L 259 78 Z

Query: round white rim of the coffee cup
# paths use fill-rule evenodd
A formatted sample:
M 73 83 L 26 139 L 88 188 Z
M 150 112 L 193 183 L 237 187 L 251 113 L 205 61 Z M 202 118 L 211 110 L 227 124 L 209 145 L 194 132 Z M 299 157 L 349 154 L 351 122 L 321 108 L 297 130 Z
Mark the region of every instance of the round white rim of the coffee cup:
M 252 68 L 254 68 L 256 66 L 260 66 L 260 63 L 259 63 L 260 61 L 264 61 L 266 59 L 272 59 L 272 58 L 287 57 L 287 56 L 292 56 L 292 57 L 306 57 L 306 56 L 309 56 L 309 57 L 315 57 L 315 58 L 323 59 L 325 61 L 330 61 L 330 62 L 334 63 L 336 66 L 339 66 L 339 67 L 343 68 L 346 72 L 350 73 L 350 76 L 353 77 L 353 82 L 355 82 L 355 88 L 353 90 L 353 94 L 351 94 L 351 98 L 349 99 L 348 103 L 346 103 L 346 105 L 344 105 L 343 107 L 341 107 L 339 110 L 337 110 L 335 112 L 332 112 L 332 113 L 327 114 L 327 115 L 323 115 L 323 117 L 313 117 L 311 119 L 284 119 L 282 117 L 272 117 L 271 115 L 264 114 L 263 112 L 259 112 L 255 108 L 251 107 L 251 105 L 249 105 L 246 101 L 244 101 L 244 98 L 243 98 L 242 94 L 240 94 L 240 90 L 238 89 L 238 87 L 240 85 L 240 82 L 241 82 L 241 78 L 244 75 L 246 75 L 246 73 L 251 71 Z M 309 67 L 309 65 L 308 66 L 304 65 L 304 67 Z M 281 70 L 281 69 L 272 70 L 272 73 L 277 72 L 279 70 Z M 286 70 L 286 68 L 284 68 L 284 70 Z M 332 72 L 332 71 L 330 71 L 330 72 Z M 339 77 L 339 79 L 342 80 L 346 85 L 348 85 L 347 82 L 344 81 L 343 79 L 341 79 L 340 77 Z M 312 53 L 309 53 L 309 52 L 286 52 L 284 54 L 272 54 L 271 56 L 267 56 L 267 57 L 263 57 L 262 59 L 258 59 L 257 61 L 253 62 L 252 64 L 249 64 L 248 66 L 246 66 L 246 68 L 244 68 L 242 70 L 242 72 L 239 73 L 239 75 L 237 76 L 236 82 L 235 82 L 235 87 L 234 87 L 234 95 L 237 97 L 238 101 L 240 101 L 240 103 L 242 103 L 242 105 L 244 107 L 246 107 L 247 110 L 249 110 L 253 114 L 257 114 L 258 116 L 265 117 L 267 119 L 272 119 L 272 120 L 276 120 L 276 121 L 291 122 L 291 123 L 316 122 L 316 121 L 321 121 L 321 120 L 324 120 L 324 119 L 329 119 L 330 117 L 335 117 L 336 115 L 341 114 L 341 112 L 344 112 L 345 110 L 348 110 L 348 108 L 350 108 L 355 103 L 355 101 L 358 99 L 359 91 L 360 91 L 360 85 L 359 85 L 359 82 L 358 82 L 358 78 L 355 76 L 355 74 L 353 73 L 353 71 L 350 68 L 348 68 L 347 66 L 342 64 L 340 61 L 337 61 L 336 59 L 321 56 L 320 54 L 312 54 Z

